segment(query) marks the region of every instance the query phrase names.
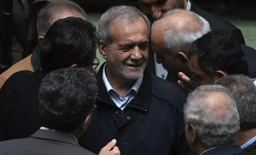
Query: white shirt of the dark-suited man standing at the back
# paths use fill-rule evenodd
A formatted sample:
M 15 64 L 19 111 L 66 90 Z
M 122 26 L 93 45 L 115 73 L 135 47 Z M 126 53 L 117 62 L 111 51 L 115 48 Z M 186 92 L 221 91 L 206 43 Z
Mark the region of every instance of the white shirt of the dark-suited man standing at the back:
M 191 3 L 190 1 L 188 0 L 188 6 L 187 6 L 187 11 L 190 11 L 191 9 Z M 157 59 L 156 59 L 156 54 L 154 53 L 154 60 L 155 60 L 155 74 L 158 76 L 158 77 L 161 77 L 163 79 L 166 79 L 167 77 L 167 70 L 165 70 L 165 68 L 163 68 L 163 65 L 162 64 L 158 64 L 157 63 Z

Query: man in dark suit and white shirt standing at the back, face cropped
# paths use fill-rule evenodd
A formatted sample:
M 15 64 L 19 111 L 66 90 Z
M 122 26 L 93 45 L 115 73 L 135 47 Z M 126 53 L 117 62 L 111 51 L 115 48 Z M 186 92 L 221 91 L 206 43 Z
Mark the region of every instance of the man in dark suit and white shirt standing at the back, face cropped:
M 211 30 L 228 29 L 232 30 L 233 35 L 239 43 L 245 44 L 244 37 L 239 28 L 235 27 L 225 19 L 214 16 L 213 14 L 200 9 L 190 0 L 139 0 L 142 12 L 153 20 L 158 19 L 161 15 L 169 9 L 186 9 L 193 11 L 206 19 L 211 27 Z M 181 19 L 182 20 L 182 19 Z M 167 71 L 164 70 L 161 64 L 157 64 L 156 56 L 149 48 L 148 67 L 152 74 L 166 79 Z

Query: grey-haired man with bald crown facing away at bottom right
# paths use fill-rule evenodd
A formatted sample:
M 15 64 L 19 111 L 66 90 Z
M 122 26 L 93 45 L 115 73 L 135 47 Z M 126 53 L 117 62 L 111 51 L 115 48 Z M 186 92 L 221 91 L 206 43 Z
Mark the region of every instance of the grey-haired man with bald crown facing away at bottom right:
M 220 85 L 195 89 L 184 105 L 188 145 L 196 155 L 237 155 L 235 144 L 239 131 L 236 102 Z

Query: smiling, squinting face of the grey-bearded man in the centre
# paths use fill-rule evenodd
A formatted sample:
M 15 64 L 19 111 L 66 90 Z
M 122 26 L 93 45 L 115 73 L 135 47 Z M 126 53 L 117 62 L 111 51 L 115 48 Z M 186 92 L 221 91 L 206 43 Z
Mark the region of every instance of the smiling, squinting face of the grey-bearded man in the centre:
M 116 22 L 110 26 L 112 42 L 105 47 L 107 66 L 112 74 L 125 79 L 143 75 L 148 59 L 148 29 L 143 19 L 126 25 Z M 104 58 L 104 57 L 103 57 Z

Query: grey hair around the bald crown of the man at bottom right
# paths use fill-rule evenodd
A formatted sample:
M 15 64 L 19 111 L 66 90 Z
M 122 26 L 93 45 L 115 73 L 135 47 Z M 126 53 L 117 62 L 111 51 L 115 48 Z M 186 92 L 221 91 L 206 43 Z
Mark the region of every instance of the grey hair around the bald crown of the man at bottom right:
M 225 95 L 225 112 L 218 112 L 209 105 L 208 96 L 213 92 Z M 235 143 L 239 131 L 239 114 L 235 100 L 229 91 L 220 85 L 203 85 L 196 88 L 184 106 L 186 130 L 188 124 L 194 125 L 200 141 L 208 148 Z

